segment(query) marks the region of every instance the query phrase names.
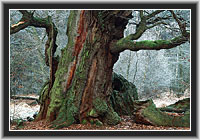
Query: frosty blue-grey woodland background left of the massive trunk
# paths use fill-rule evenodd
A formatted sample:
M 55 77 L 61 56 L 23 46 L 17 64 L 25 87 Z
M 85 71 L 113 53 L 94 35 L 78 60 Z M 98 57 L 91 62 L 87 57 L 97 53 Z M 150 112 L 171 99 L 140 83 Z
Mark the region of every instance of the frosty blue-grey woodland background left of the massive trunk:
M 33 12 L 33 11 L 30 11 Z M 58 29 L 57 49 L 55 55 L 61 55 L 61 49 L 67 44 L 63 30 L 67 28 L 67 10 L 36 10 L 34 16 L 44 18 L 51 16 Z M 18 10 L 10 11 L 10 24 L 14 25 L 22 18 Z M 11 94 L 38 94 L 41 85 L 49 76 L 49 67 L 45 64 L 45 42 L 47 34 L 44 28 L 28 26 L 10 36 L 10 78 Z M 19 71 L 19 69 L 22 69 Z M 20 88 L 19 88 L 20 87 Z

